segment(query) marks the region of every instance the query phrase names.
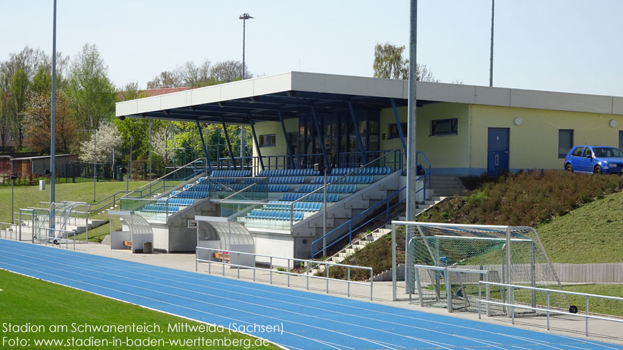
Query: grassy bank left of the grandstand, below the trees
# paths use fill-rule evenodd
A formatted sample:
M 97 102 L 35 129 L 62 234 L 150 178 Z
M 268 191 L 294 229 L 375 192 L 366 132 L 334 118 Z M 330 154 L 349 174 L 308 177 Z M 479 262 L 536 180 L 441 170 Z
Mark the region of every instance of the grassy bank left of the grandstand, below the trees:
M 144 181 L 133 181 L 129 183 L 130 191 L 138 189 L 140 186 L 147 184 Z M 56 184 L 56 200 L 68 200 L 73 202 L 93 203 L 93 183 L 81 182 L 77 184 Z M 117 191 L 125 191 L 126 182 L 98 182 L 96 185 L 96 202 L 103 198 L 116 193 Z M 16 186 L 14 194 L 14 211 L 26 207 L 42 207 L 40 202 L 50 201 L 50 187 L 46 186 L 45 191 L 39 191 L 39 186 Z M 92 216 L 99 220 L 107 220 L 108 214 L 99 214 Z M 11 188 L 0 187 L 0 221 L 10 222 L 11 220 Z M 17 220 L 17 217 L 14 218 Z M 118 221 L 118 219 L 117 219 Z M 113 222 L 114 224 L 115 222 Z M 120 224 L 117 223 L 117 226 Z M 89 240 L 99 241 L 103 236 L 108 234 L 108 225 L 103 225 L 89 231 Z M 78 236 L 78 238 L 80 238 Z

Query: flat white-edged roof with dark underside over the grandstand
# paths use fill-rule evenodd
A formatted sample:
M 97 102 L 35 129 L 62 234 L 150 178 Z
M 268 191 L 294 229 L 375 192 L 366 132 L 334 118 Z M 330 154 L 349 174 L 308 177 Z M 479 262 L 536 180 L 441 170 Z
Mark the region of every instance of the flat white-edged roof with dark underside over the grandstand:
M 436 102 L 623 114 L 623 97 L 418 82 L 418 105 Z M 117 103 L 121 117 L 248 124 L 317 112 L 407 105 L 407 80 L 291 71 Z

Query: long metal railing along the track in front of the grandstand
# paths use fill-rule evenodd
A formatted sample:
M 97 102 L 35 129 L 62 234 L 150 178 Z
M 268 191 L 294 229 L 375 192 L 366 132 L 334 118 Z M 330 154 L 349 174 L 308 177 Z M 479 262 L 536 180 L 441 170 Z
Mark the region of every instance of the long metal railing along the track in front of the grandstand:
M 228 253 L 228 255 L 230 256 L 230 259 L 232 257 L 232 254 L 234 254 L 234 256 L 236 257 L 235 261 L 240 261 L 239 256 L 253 256 L 253 266 L 239 265 L 239 264 L 225 262 L 225 261 L 213 261 L 213 260 L 199 259 L 199 251 L 200 250 L 206 250 L 207 252 L 209 252 L 209 256 L 212 256 L 212 253 L 216 253 L 216 252 L 221 252 L 221 254 Z M 256 257 L 268 258 L 269 259 L 269 263 L 270 263 L 270 268 L 258 268 L 257 266 L 255 266 L 255 258 Z M 286 260 L 287 261 L 287 268 L 285 268 L 284 271 L 273 269 L 273 259 L 275 259 L 275 260 Z M 268 271 L 268 272 L 270 272 L 270 283 L 271 284 L 273 284 L 273 273 L 275 273 L 275 274 L 286 274 L 287 275 L 287 285 L 288 285 L 288 287 L 290 286 L 290 276 L 301 276 L 301 277 L 305 277 L 305 281 L 306 281 L 306 287 L 305 288 L 307 288 L 307 290 L 309 290 L 309 279 L 323 279 L 323 280 L 327 281 L 327 287 L 326 287 L 327 293 L 329 292 L 329 281 L 344 282 L 344 283 L 346 283 L 346 295 L 348 297 L 350 297 L 350 284 L 351 283 L 352 284 L 361 285 L 361 286 L 370 286 L 370 300 L 372 300 L 374 272 L 373 272 L 372 268 L 368 268 L 367 266 L 344 265 L 344 264 L 340 264 L 340 263 L 327 263 L 325 261 L 312 261 L 312 260 L 306 260 L 306 259 L 284 258 L 282 256 L 271 256 L 271 255 L 263 255 L 263 254 L 247 253 L 247 252 L 235 252 L 235 251 L 232 251 L 232 250 L 222 250 L 222 249 L 216 249 L 216 248 L 196 247 L 196 250 L 195 250 L 195 271 L 198 271 L 199 263 L 207 263 L 208 264 L 208 273 L 212 273 L 212 263 L 216 263 L 216 264 L 222 265 L 223 266 L 223 272 L 222 272 L 223 276 L 225 276 L 225 265 L 232 266 L 234 268 L 237 268 L 237 278 L 240 278 L 240 268 L 253 269 L 253 281 L 255 281 L 255 271 L 256 270 Z M 303 263 L 303 265 L 305 265 L 305 273 L 291 272 L 290 268 L 295 268 L 296 264 L 298 264 L 298 266 L 301 266 L 301 263 Z M 314 268 L 314 266 L 318 266 L 318 265 L 324 265 L 325 266 L 326 276 L 316 276 L 314 274 L 310 274 L 312 268 Z M 331 266 L 334 266 L 334 267 L 337 267 L 337 268 L 345 268 L 346 269 L 346 279 L 345 280 L 344 279 L 334 279 L 332 277 L 329 277 L 329 268 Z M 368 283 L 368 282 L 361 282 L 361 281 L 351 281 L 350 280 L 350 270 L 351 269 L 369 270 L 370 271 L 370 282 Z

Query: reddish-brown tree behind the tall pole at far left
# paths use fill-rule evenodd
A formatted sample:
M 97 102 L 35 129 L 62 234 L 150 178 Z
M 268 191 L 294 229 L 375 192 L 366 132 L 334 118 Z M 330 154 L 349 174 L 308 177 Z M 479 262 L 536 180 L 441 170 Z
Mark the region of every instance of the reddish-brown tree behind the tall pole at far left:
M 30 92 L 24 111 L 24 146 L 39 153 L 50 151 L 51 139 L 51 91 Z M 55 149 L 62 153 L 74 150 L 76 119 L 71 114 L 67 96 L 62 91 L 56 94 Z

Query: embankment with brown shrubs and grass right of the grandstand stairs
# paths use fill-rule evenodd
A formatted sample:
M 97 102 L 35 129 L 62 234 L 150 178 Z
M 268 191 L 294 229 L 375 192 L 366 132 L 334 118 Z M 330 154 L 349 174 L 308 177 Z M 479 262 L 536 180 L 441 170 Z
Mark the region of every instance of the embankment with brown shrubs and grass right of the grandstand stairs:
M 470 182 L 479 185 L 466 197 L 439 204 L 418 220 L 530 225 L 536 227 L 554 263 L 623 261 L 623 193 L 617 193 L 623 187 L 623 177 L 531 171 Z M 404 245 L 404 237 L 398 243 Z M 375 272 L 389 269 L 389 236 L 367 245 L 344 263 L 370 266 Z M 334 273 L 338 276 L 341 271 Z

